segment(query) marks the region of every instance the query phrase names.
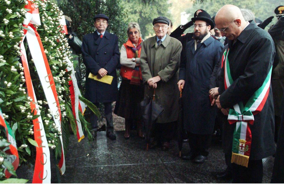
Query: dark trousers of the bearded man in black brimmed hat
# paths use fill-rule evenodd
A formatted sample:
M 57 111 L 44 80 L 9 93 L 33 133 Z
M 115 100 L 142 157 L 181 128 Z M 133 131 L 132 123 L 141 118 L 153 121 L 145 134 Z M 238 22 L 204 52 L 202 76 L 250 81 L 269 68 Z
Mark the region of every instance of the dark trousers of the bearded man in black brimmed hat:
M 208 156 L 211 134 L 193 134 L 187 132 L 190 151 L 195 155 Z

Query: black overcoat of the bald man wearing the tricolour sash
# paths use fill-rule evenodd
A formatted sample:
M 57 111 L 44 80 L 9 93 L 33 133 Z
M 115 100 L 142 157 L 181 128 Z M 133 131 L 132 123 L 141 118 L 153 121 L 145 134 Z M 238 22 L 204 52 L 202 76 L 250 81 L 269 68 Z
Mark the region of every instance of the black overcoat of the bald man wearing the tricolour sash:
M 256 26 L 253 21 L 241 32 L 235 44 L 229 40 L 229 66 L 233 83 L 224 90 L 224 72 L 221 72 L 220 104 L 223 108 L 233 108 L 242 101 L 247 103 L 252 94 L 262 86 L 271 69 L 275 55 L 275 47 L 271 36 Z M 223 64 L 224 66 L 224 64 Z M 232 140 L 235 124 L 224 124 L 224 152 L 232 151 Z M 252 143 L 250 160 L 260 160 L 275 152 L 274 144 L 274 109 L 270 91 L 262 111 L 254 115 L 254 123 L 250 125 Z

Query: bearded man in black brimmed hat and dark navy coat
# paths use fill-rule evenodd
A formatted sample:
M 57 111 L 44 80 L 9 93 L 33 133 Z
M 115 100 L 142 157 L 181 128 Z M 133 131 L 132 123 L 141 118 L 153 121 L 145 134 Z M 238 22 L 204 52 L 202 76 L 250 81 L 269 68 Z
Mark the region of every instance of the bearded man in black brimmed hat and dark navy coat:
M 208 91 L 210 76 L 218 63 L 224 45 L 210 33 L 215 24 L 206 11 L 191 19 L 194 39 L 186 45 L 186 58 L 179 68 L 178 87 L 183 88 L 183 124 L 189 137 L 190 152 L 183 159 L 202 163 L 208 156 L 216 109 L 211 106 Z

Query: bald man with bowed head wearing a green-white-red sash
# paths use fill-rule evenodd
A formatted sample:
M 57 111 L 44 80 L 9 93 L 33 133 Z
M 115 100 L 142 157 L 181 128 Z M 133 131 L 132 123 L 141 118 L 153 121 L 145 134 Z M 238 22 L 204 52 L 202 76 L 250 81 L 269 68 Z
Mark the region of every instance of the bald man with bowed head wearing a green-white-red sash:
M 226 75 L 227 82 L 225 83 L 224 73 L 221 72 L 221 82 L 223 84 L 220 84 L 218 88 L 218 92 L 221 95 L 218 96 L 216 105 L 220 109 L 227 109 L 227 111 L 230 108 L 229 112 L 231 112 L 235 109 L 234 106 L 239 107 L 239 103 L 243 102 L 244 105 L 247 105 L 249 100 L 251 102 L 251 97 L 265 82 L 269 84 L 267 82 L 269 80 L 265 79 L 270 79 L 275 47 L 271 36 L 256 26 L 254 21 L 246 22 L 240 9 L 234 5 L 223 6 L 216 14 L 215 23 L 222 36 L 226 36 L 229 39 L 229 54 L 227 54 L 225 59 L 229 63 L 226 65 L 227 67 L 224 64 L 223 66 L 224 68 L 229 68 L 231 76 L 231 80 L 229 80 L 228 75 Z M 225 90 L 225 84 L 227 86 L 228 83 L 231 84 Z M 249 158 L 248 163 L 246 162 L 246 167 L 235 164 L 237 161 L 232 159 L 234 162 L 232 164 L 233 183 L 262 183 L 262 158 L 271 156 L 275 152 L 273 140 L 274 109 L 271 86 L 268 85 L 265 94 L 267 94 L 266 98 L 263 97 L 264 100 L 261 101 L 264 103 L 259 105 L 259 107 L 262 106 L 262 110 L 260 109 L 258 112 L 252 110 L 254 112 L 254 121 L 253 124 L 248 123 L 251 139 L 248 132 L 248 137 L 245 140 L 251 141 L 251 145 L 247 147 L 248 149 L 250 148 L 249 157 L 247 155 L 246 157 L 242 156 L 247 152 L 247 150 L 243 150 L 243 144 L 241 144 L 241 141 L 245 142 L 245 140 L 239 139 L 239 144 L 236 144 L 238 147 L 236 148 L 235 144 L 232 147 L 236 123 L 239 123 L 240 120 L 232 124 L 224 124 L 223 144 L 225 145 L 224 148 L 226 148 L 224 152 L 233 152 L 234 154 L 235 149 L 237 149 L 240 152 L 239 155 L 234 154 L 235 157 Z M 250 121 L 250 123 L 252 122 Z M 244 132 L 238 135 L 243 136 Z M 239 145 L 242 147 L 239 147 Z M 248 143 L 245 143 L 245 145 L 248 146 Z M 242 152 L 243 154 L 241 154 Z

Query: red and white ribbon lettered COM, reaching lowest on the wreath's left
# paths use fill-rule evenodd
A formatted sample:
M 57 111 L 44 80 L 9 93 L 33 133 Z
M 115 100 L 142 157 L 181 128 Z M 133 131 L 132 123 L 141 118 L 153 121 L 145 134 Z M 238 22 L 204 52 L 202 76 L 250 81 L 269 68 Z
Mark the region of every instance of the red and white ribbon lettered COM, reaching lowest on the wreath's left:
M 24 44 L 20 44 L 20 47 L 22 53 L 21 59 L 22 59 L 22 65 L 24 67 L 28 96 L 30 96 L 30 98 L 32 98 L 33 100 L 30 103 L 30 106 L 32 111 L 34 112 L 34 115 L 40 115 L 39 106 L 37 104 L 36 95 L 34 92 L 34 87 L 30 76 L 30 70 L 28 66 L 25 46 Z M 41 116 L 34 119 L 33 123 L 34 123 L 34 139 L 37 142 L 38 147 L 36 147 L 36 163 L 35 163 L 32 183 L 50 183 L 51 182 L 50 153 L 49 153 L 49 148 Z

